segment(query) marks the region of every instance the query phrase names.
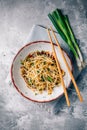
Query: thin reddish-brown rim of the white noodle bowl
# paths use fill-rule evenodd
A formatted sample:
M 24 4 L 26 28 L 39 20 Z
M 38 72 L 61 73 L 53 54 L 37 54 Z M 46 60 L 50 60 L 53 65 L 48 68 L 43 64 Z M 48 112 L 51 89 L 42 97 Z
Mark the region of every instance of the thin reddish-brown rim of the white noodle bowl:
M 28 100 L 30 100 L 30 101 L 33 101 L 33 102 L 46 103 L 46 102 L 51 102 L 51 101 L 54 101 L 54 100 L 60 98 L 60 97 L 64 94 L 64 92 L 61 93 L 58 97 L 53 98 L 53 99 L 51 99 L 51 100 L 47 100 L 47 101 L 45 101 L 45 100 L 43 100 L 43 101 L 33 100 L 33 99 L 31 99 L 31 98 L 25 96 L 25 95 L 23 94 L 23 92 L 21 92 L 21 91 L 19 90 L 19 88 L 18 88 L 17 85 L 15 84 L 15 81 L 14 81 L 14 78 L 13 78 L 13 64 L 14 64 L 14 61 L 15 61 L 16 57 L 18 56 L 18 54 L 19 54 L 25 47 L 30 46 L 30 45 L 32 45 L 32 44 L 37 44 L 38 42 L 39 42 L 39 43 L 40 43 L 40 42 L 44 42 L 44 43 L 50 44 L 49 41 L 41 40 L 41 41 L 29 42 L 28 44 L 24 45 L 21 49 L 19 49 L 19 51 L 17 52 L 17 54 L 16 54 L 15 57 L 13 58 L 13 61 L 12 61 L 12 64 L 11 64 L 11 69 L 10 69 L 10 74 L 11 74 L 11 80 L 12 80 L 12 83 L 13 83 L 14 87 L 16 88 L 16 90 L 17 90 L 24 98 L 26 98 L 26 99 L 28 99 Z M 54 43 L 54 45 L 57 46 L 55 43 Z M 64 49 L 63 49 L 63 51 L 66 53 L 66 51 L 65 51 Z M 66 55 L 68 56 L 67 53 L 66 53 Z M 73 72 L 72 61 L 71 61 L 71 59 L 70 59 L 69 56 L 68 56 L 68 58 L 69 58 L 69 60 L 70 60 L 70 64 L 71 64 L 71 67 L 72 67 L 71 71 Z M 70 87 L 70 84 L 71 84 L 71 81 L 70 81 L 70 83 L 69 83 L 67 89 Z

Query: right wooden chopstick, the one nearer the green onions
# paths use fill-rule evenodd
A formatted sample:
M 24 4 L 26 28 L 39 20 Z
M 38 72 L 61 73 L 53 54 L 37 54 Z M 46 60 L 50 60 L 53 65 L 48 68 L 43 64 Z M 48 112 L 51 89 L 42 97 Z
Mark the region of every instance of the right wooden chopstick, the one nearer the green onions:
M 74 85 L 74 87 L 75 87 L 75 90 L 76 90 L 76 93 L 77 93 L 77 95 L 78 95 L 78 98 L 79 98 L 79 100 L 82 102 L 82 101 L 83 101 L 83 98 L 82 98 L 82 96 L 81 96 L 81 94 L 80 94 L 80 91 L 79 91 L 79 88 L 78 88 L 78 86 L 77 86 L 77 84 L 76 84 L 76 81 L 75 81 L 75 79 L 74 79 L 74 76 L 73 76 L 73 74 L 72 74 L 72 72 L 71 72 L 71 70 L 70 70 L 70 67 L 69 67 L 69 65 L 68 65 L 68 63 L 67 63 L 67 61 L 66 61 L 66 59 L 65 59 L 65 57 L 64 57 L 64 54 L 63 54 L 63 52 L 62 52 L 62 49 L 61 49 L 61 47 L 60 47 L 60 44 L 59 44 L 59 42 L 58 42 L 58 40 L 57 40 L 57 37 L 56 37 L 56 35 L 55 35 L 55 33 L 54 33 L 52 27 L 51 27 L 51 31 L 52 31 L 52 34 L 53 34 L 54 39 L 55 39 L 55 41 L 56 41 L 56 44 L 57 44 L 57 46 L 58 46 L 58 48 L 59 48 L 59 51 L 60 51 L 60 53 L 61 53 L 61 56 L 62 56 L 62 58 L 63 58 L 63 60 L 64 60 L 64 62 L 65 62 L 65 65 L 66 65 L 66 67 L 67 67 L 68 73 L 69 73 L 69 75 L 70 75 L 70 77 L 71 77 L 71 80 L 72 80 L 72 82 L 73 82 L 73 85 Z

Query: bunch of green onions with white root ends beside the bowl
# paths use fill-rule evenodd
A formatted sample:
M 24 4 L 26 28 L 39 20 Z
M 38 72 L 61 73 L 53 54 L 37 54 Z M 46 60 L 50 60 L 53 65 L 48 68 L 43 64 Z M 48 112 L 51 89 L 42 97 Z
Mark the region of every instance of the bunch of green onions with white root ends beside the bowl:
M 48 17 L 53 23 L 57 32 L 61 35 L 63 40 L 68 44 L 70 50 L 74 54 L 78 67 L 82 68 L 84 65 L 83 56 L 81 54 L 80 48 L 75 39 L 75 35 L 70 26 L 68 16 L 63 15 L 60 9 L 56 9 L 52 13 L 49 13 Z

